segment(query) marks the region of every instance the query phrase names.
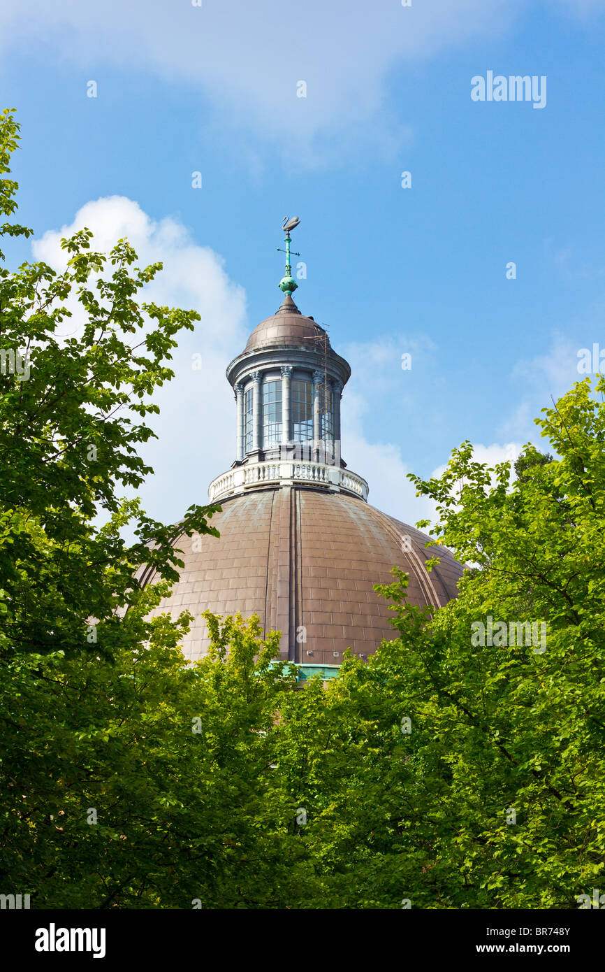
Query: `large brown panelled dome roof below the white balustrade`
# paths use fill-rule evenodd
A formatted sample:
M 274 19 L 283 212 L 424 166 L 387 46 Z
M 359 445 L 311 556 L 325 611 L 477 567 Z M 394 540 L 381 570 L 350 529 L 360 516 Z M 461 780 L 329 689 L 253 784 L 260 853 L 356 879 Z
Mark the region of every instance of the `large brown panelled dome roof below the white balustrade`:
M 372 590 L 392 582 L 393 566 L 409 573 L 409 601 L 418 606 L 445 605 L 456 596 L 462 573 L 444 548 L 440 566 L 427 573 L 424 561 L 434 550 L 424 548 L 423 534 L 345 493 L 255 489 L 222 501 L 212 525 L 220 537 L 196 538 L 195 551 L 192 538 L 176 541 L 185 568 L 172 595 L 152 611 L 176 617 L 187 609 L 194 615 L 183 643 L 191 660 L 208 648 L 200 616 L 208 609 L 256 613 L 265 633 L 283 633 L 284 657 L 338 665 L 349 647 L 365 656 L 383 638 L 396 637 L 387 601 Z

